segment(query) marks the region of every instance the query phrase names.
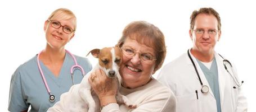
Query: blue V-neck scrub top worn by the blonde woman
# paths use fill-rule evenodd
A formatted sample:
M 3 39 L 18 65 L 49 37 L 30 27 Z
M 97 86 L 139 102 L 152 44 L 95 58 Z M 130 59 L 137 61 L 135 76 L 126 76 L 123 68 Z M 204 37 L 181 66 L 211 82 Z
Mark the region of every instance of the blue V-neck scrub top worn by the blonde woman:
M 92 65 L 87 58 L 78 57 L 75 59 L 84 72 L 88 73 L 92 69 Z M 51 94 L 55 95 L 55 101 L 50 102 L 47 88 L 43 83 L 42 76 L 37 66 L 37 55 L 28 62 L 22 64 L 16 69 L 11 78 L 11 87 L 9 94 L 9 111 L 23 111 L 31 106 L 30 111 L 47 111 L 60 100 L 60 95 L 68 92 L 73 85 L 70 68 L 75 64 L 73 58 L 68 53 L 65 54 L 64 63 L 61 67 L 59 77 L 55 77 L 53 73 L 42 62 L 40 62 L 44 77 L 51 90 Z M 83 74 L 79 69 L 74 71 L 74 83 L 82 81 Z

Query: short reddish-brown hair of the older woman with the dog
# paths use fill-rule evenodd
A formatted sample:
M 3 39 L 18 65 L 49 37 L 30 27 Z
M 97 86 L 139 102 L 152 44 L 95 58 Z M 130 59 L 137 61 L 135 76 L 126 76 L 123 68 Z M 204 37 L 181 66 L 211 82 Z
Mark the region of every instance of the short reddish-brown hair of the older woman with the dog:
M 122 47 L 128 37 L 154 49 L 156 55 L 154 72 L 161 68 L 166 55 L 166 46 L 164 34 L 158 27 L 146 21 L 131 22 L 124 28 L 122 38 L 118 41 L 118 46 Z

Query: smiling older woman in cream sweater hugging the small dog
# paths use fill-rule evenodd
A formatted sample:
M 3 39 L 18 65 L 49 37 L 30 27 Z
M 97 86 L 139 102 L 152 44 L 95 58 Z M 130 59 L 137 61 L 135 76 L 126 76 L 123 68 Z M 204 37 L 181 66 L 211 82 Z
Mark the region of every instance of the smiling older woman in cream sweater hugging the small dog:
M 176 111 L 176 98 L 169 88 L 152 77 L 163 64 L 166 48 L 163 33 L 146 21 L 135 21 L 123 30 L 118 42 L 122 49 L 123 63 L 120 93 L 127 96 L 135 109 L 116 103 L 118 83 L 110 80 L 100 70 L 88 80 L 100 100 L 101 111 Z

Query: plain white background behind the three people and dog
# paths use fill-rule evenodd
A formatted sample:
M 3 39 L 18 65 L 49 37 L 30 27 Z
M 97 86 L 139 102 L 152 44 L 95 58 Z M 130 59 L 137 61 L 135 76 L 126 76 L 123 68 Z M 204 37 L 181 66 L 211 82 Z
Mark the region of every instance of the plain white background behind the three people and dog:
M 11 75 L 46 46 L 43 25 L 52 11 L 69 8 L 78 18 L 71 53 L 86 57 L 95 48 L 114 46 L 125 25 L 145 20 L 165 35 L 164 64 L 191 48 L 190 15 L 200 7 L 213 7 L 221 16 L 222 36 L 215 50 L 236 64 L 249 111 L 255 108 L 255 3 L 253 1 L 1 1 L 0 2 L 0 111 L 7 111 Z M 96 59 L 88 56 L 94 65 Z M 154 77 L 159 73 L 156 72 Z M 43 82 L 38 82 L 43 83 Z

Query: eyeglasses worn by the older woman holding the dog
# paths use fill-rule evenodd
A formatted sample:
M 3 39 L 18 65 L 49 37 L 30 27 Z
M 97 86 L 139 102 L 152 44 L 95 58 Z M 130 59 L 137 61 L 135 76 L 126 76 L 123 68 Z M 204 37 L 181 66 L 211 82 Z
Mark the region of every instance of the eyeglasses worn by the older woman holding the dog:
M 121 49 L 122 53 L 128 58 L 132 58 L 134 55 L 136 55 L 136 53 L 139 53 L 135 52 L 135 49 L 132 46 L 123 46 Z M 139 53 L 139 57 L 144 63 L 151 63 L 156 60 L 150 53 Z

